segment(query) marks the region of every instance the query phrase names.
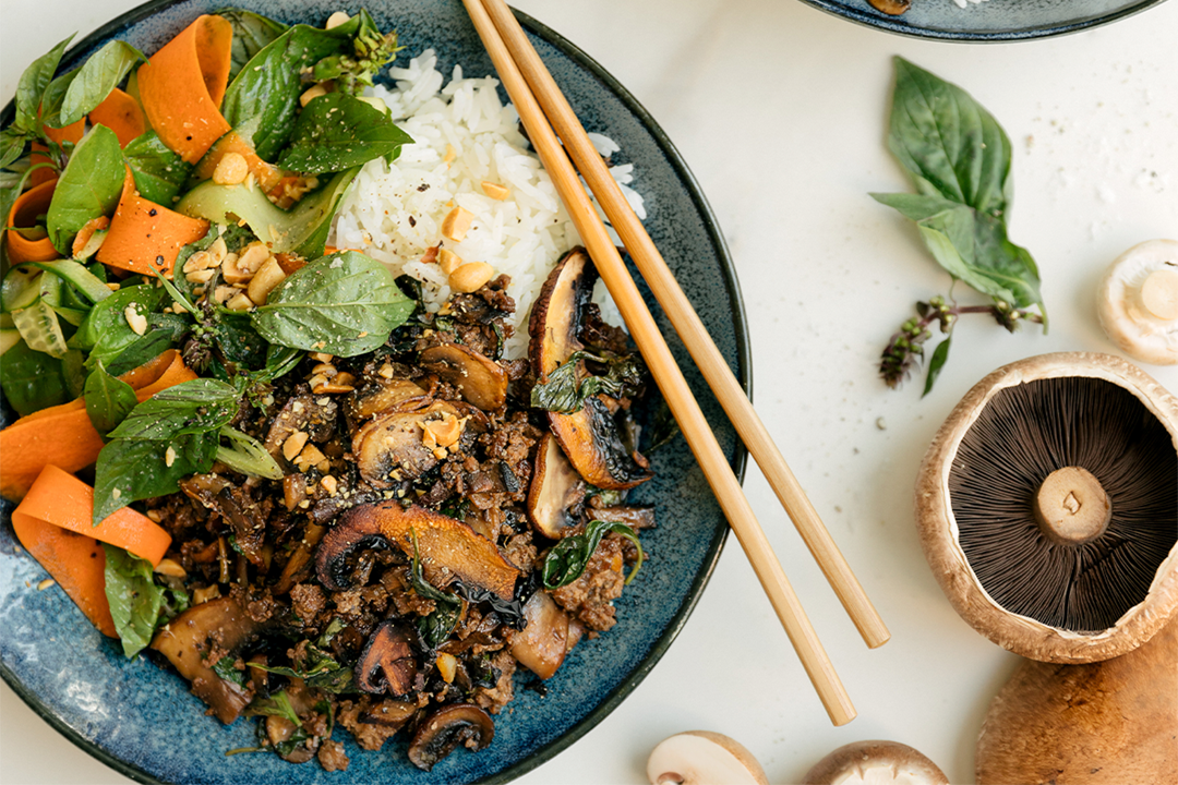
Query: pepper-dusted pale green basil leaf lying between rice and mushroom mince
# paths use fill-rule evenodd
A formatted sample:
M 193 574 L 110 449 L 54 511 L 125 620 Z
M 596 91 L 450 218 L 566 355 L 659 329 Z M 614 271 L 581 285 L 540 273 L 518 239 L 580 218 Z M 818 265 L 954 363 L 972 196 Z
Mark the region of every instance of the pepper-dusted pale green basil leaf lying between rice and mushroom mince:
M 384 345 L 413 306 L 384 265 L 345 251 L 290 275 L 252 318 L 271 344 L 355 357 Z

